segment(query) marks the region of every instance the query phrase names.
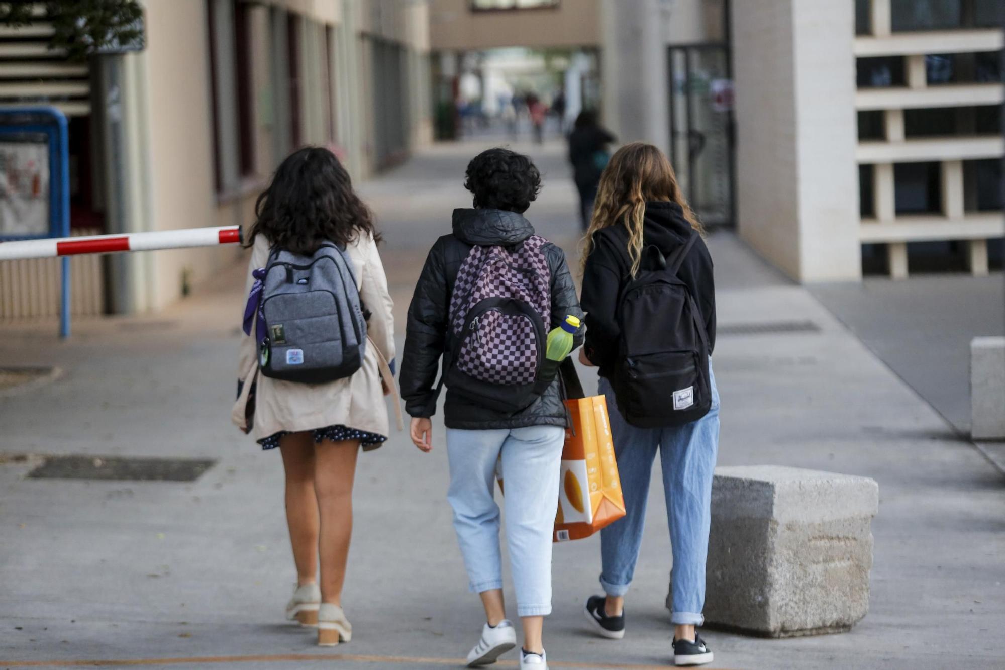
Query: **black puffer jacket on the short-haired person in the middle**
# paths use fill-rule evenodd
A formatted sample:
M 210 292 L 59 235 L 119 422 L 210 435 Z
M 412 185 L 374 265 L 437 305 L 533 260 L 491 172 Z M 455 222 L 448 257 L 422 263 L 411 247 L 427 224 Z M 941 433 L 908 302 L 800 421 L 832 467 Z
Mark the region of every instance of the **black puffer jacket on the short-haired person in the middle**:
M 401 364 L 401 395 L 412 416 L 432 416 L 436 411 L 436 379 L 440 356 L 447 346 L 450 295 L 460 265 L 474 245 L 508 246 L 534 234 L 523 215 L 501 209 L 455 209 L 453 232 L 436 240 L 415 286 L 408 307 L 405 353 Z M 576 287 L 565 254 L 548 243 L 542 247 L 551 273 L 552 314 L 549 329 L 566 315 L 582 318 Z M 577 334 L 575 346 L 583 343 Z M 529 407 L 516 414 L 471 404 L 447 389 L 443 406 L 447 428 L 466 430 L 515 429 L 528 426 L 565 426 L 561 383 L 552 385 Z

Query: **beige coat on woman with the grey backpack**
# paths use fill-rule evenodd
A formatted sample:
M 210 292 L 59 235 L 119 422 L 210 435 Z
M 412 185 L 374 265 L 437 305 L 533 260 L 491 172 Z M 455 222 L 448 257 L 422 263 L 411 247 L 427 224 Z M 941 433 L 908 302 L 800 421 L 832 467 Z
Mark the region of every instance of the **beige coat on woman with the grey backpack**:
M 248 264 L 244 296 L 248 295 L 254 283 L 251 272 L 265 267 L 268 250 L 268 241 L 264 235 L 258 235 Z M 258 373 L 258 351 L 252 327 L 251 335 L 241 337 L 237 368 L 237 378 L 242 382 L 241 392 L 231 418 L 239 429 L 248 433 L 245 418 L 249 409 L 248 393 L 256 381 L 252 421 L 255 440 L 268 438 L 280 431 L 292 433 L 336 425 L 385 437 L 390 435 L 378 361 L 379 356 L 386 361 L 394 360 L 394 317 L 391 312 L 394 303 L 387 290 L 387 277 L 373 237 L 361 236 L 346 250 L 353 263 L 360 298 L 372 313 L 367 321 L 370 341 L 367 342 L 363 366 L 350 377 L 321 384 L 263 376 Z M 395 391 L 393 400 L 397 403 L 394 379 L 388 380 L 388 386 Z

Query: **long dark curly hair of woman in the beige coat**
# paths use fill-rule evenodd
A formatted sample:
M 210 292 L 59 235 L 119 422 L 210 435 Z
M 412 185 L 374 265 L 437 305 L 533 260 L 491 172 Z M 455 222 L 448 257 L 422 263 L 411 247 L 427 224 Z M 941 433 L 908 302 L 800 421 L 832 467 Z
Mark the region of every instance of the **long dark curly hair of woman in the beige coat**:
M 361 233 L 381 240 L 346 168 L 320 147 L 294 151 L 279 164 L 254 213 L 246 246 L 263 234 L 273 247 L 311 256 L 326 241 L 346 245 Z

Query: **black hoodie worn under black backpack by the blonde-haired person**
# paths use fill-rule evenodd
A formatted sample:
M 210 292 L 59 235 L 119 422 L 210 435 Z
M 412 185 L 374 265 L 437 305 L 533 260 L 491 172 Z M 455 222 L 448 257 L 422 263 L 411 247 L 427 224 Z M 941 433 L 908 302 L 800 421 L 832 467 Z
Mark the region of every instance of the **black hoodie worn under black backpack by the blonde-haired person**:
M 653 244 L 669 256 L 683 245 L 691 226 L 675 202 L 647 202 L 642 228 L 642 244 Z M 600 367 L 600 376 L 610 377 L 617 361 L 621 329 L 617 305 L 621 289 L 631 271 L 628 230 L 623 225 L 601 228 L 593 236 L 593 250 L 583 273 L 583 309 L 586 311 L 586 353 Z M 709 333 L 709 352 L 716 346 L 716 285 L 712 257 L 703 239 L 698 239 L 680 266 L 677 277 L 690 289 Z M 653 327 L 659 327 L 653 315 Z

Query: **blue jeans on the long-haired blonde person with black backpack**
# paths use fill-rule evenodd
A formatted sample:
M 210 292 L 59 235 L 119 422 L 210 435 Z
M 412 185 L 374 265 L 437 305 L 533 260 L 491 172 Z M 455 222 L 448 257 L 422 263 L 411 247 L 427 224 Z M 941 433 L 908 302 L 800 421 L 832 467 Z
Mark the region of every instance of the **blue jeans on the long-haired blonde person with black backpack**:
M 652 462 L 658 451 L 673 552 L 670 621 L 678 625 L 705 623 L 701 610 L 712 523 L 712 475 L 719 452 L 719 390 L 711 363 L 709 373 L 712 377 L 709 413 L 685 426 L 666 429 L 630 426 L 618 412 L 610 383 L 604 378 L 600 380 L 600 392 L 607 396 L 626 512 L 624 518 L 600 531 L 603 559 L 600 583 L 608 596 L 624 596 L 628 592 L 642 540 Z

